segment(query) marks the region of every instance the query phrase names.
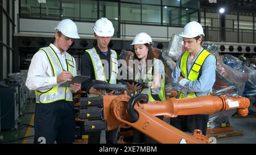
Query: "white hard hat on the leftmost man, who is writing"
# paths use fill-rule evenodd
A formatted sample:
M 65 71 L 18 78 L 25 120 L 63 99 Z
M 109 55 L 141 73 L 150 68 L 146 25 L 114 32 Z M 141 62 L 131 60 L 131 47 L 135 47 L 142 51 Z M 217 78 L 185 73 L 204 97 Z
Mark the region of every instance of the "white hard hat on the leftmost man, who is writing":
M 76 24 L 70 19 L 63 19 L 60 23 L 55 27 L 55 30 L 60 31 L 63 35 L 79 39 L 79 34 L 77 33 Z

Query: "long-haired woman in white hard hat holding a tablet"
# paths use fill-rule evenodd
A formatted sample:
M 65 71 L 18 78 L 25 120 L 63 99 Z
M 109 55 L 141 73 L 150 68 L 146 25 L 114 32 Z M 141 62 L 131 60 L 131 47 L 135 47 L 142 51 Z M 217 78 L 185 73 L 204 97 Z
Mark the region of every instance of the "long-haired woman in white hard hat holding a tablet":
M 166 100 L 164 64 L 153 55 L 151 37 L 144 32 L 138 33 L 131 45 L 135 52 L 134 61 L 138 60 L 139 63 L 139 67 L 135 69 L 135 81 L 143 83 L 148 88 L 134 83 L 127 83 L 128 87 L 133 89 L 135 94 L 147 94 L 149 101 Z M 163 119 L 163 116 L 159 118 Z M 134 129 L 133 134 L 134 143 L 143 143 L 144 135 L 141 132 Z M 146 137 L 146 143 L 156 143 L 156 141 Z

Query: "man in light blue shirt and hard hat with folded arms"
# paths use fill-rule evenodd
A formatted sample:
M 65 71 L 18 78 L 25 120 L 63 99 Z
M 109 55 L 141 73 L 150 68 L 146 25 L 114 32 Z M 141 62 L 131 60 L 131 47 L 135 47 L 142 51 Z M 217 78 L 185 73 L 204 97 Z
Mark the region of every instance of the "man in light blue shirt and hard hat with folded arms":
M 216 58 L 203 49 L 204 31 L 200 23 L 189 22 L 183 32 L 185 52 L 177 60 L 172 72 L 172 86 L 177 98 L 191 98 L 209 95 L 215 82 Z M 170 124 L 184 132 L 201 129 L 206 135 L 209 115 L 186 115 L 172 118 Z

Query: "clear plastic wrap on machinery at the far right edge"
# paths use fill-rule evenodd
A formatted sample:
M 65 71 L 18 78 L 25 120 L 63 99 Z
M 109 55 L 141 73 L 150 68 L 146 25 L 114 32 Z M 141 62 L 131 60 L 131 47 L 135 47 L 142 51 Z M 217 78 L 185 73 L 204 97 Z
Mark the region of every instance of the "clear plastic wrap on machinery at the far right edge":
M 237 57 L 232 55 L 225 55 L 223 62 L 230 67 L 237 69 L 238 71 L 245 73 L 249 76 L 249 80 L 245 83 L 245 90 L 243 91 L 243 97 L 250 99 L 251 103 L 256 100 L 256 70 L 254 66 L 247 66 L 247 64 Z

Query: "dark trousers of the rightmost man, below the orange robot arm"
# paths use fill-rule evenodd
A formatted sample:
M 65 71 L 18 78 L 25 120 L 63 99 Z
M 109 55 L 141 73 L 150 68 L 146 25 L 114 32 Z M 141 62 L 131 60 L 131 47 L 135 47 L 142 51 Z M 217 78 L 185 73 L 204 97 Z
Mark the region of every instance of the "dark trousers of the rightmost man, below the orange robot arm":
M 200 129 L 206 135 L 208 120 L 209 115 L 183 115 L 171 118 L 170 124 L 183 132 L 192 133 L 194 129 Z

